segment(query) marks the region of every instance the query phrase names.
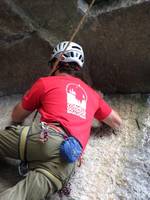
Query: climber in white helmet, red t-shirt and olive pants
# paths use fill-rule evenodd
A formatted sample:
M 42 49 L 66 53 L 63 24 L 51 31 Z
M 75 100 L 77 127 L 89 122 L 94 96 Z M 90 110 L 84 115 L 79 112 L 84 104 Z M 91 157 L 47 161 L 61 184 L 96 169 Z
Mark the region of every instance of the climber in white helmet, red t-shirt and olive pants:
M 0 156 L 21 159 L 28 172 L 0 200 L 41 200 L 61 190 L 86 147 L 93 118 L 121 125 L 118 113 L 81 80 L 83 65 L 82 47 L 60 42 L 50 59 L 51 76 L 39 78 L 14 107 L 12 125 L 0 131 Z M 35 110 L 39 123 L 23 125 Z

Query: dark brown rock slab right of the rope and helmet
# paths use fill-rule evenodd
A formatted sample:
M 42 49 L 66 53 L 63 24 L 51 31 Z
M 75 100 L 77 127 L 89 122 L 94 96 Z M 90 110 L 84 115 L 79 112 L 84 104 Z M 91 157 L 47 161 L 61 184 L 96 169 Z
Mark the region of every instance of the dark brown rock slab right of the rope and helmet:
M 150 2 L 94 13 L 80 32 L 93 85 L 106 93 L 150 91 Z M 92 17 L 93 16 L 93 17 Z

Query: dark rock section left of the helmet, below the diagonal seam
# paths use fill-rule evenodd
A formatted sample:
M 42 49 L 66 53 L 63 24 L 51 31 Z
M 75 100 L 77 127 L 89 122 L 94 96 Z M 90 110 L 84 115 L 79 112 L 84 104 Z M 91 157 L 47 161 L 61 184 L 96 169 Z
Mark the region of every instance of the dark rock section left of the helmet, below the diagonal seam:
M 17 9 L 0 2 L 0 96 L 22 93 L 48 73 L 51 48 Z

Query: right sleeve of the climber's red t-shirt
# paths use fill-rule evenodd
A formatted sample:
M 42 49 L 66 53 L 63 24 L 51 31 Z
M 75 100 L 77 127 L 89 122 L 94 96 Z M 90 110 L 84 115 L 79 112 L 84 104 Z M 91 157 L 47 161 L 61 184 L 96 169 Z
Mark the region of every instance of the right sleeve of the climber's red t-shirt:
M 94 117 L 98 119 L 99 121 L 104 120 L 109 116 L 111 113 L 112 108 L 106 103 L 106 101 L 103 98 L 99 98 L 99 108 L 96 111 Z

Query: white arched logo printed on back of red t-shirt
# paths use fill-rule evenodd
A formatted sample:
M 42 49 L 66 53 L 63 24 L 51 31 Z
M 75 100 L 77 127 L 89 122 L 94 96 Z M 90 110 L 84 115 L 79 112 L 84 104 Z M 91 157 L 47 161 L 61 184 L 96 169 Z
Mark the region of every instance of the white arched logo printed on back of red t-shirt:
M 67 113 L 86 119 L 87 94 L 78 84 L 69 83 L 66 86 Z

